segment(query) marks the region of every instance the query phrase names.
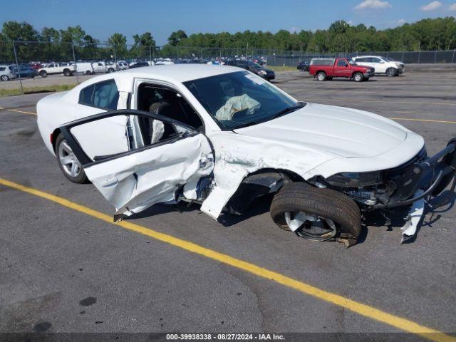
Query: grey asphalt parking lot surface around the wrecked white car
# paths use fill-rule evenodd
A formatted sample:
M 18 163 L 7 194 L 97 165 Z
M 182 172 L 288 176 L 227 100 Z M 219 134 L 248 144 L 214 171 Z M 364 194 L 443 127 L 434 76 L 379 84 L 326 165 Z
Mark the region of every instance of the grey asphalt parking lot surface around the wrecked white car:
M 431 155 L 456 136 L 455 73 L 355 83 L 294 71 L 278 73 L 275 84 L 298 100 L 393 118 L 423 135 Z M 0 178 L 112 215 L 92 185 L 66 180 L 44 147 L 33 115 L 43 96 L 0 98 Z M 357 314 L 13 187 L 0 184 L 0 202 L 0 332 L 402 331 L 378 314 Z M 127 222 L 456 336 L 456 209 L 448 207 L 427 214 L 403 245 L 400 213 L 393 227 L 368 217 L 349 249 L 282 231 L 266 199 L 219 222 L 197 205 L 157 205 Z

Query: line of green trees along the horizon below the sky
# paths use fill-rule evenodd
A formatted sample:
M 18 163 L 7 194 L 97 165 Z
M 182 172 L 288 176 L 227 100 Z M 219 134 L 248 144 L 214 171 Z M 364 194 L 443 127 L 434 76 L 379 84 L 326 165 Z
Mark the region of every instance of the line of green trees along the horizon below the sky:
M 26 22 L 6 21 L 0 31 L 0 61 L 14 60 L 11 41 L 41 42 L 15 43 L 21 61 L 78 59 L 149 58 L 159 56 L 200 56 L 202 47 L 215 49 L 239 49 L 249 53 L 254 48 L 276 51 L 300 51 L 336 53 L 351 51 L 432 51 L 456 49 L 456 19 L 452 16 L 423 19 L 413 24 L 378 30 L 364 24 L 351 25 L 335 21 L 327 29 L 290 32 L 280 30 L 244 31 L 237 33 L 194 33 L 177 30 L 170 34 L 165 46 L 158 47 L 151 32 L 135 34 L 133 44 L 127 44 L 122 33 L 113 33 L 101 43 L 90 36 L 81 26 L 69 26 L 58 30 L 44 27 L 38 31 Z M 209 54 L 209 52 L 206 52 Z M 224 50 L 223 55 L 227 54 Z

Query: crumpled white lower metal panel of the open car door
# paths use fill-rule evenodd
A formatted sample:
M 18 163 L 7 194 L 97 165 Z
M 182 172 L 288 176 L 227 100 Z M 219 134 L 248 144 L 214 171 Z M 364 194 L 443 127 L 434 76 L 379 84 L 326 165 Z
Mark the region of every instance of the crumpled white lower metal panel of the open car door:
M 210 175 L 213 167 L 209 142 L 198 134 L 89 165 L 85 171 L 93 185 L 114 205 L 115 214 L 130 215 L 155 203 L 175 202 L 177 192 L 185 185 L 188 187 L 184 191 L 192 197 L 191 188 L 197 186 L 200 178 Z

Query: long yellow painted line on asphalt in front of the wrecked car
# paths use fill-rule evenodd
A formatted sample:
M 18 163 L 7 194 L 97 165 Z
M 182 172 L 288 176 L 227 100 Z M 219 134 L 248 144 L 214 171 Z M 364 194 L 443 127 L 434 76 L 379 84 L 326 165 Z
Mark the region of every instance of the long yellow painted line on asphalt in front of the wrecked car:
M 227 264 L 229 266 L 235 267 L 237 269 L 242 269 L 243 271 L 247 271 L 250 274 L 254 274 L 256 276 L 260 276 L 264 279 L 269 279 L 271 281 L 276 281 L 279 284 L 282 284 L 286 287 L 291 289 L 295 289 L 296 291 L 300 291 L 303 294 L 307 294 L 309 296 L 313 296 L 314 298 L 321 299 L 328 303 L 334 304 L 336 306 L 341 306 L 344 309 L 348 309 L 350 311 L 355 312 L 361 316 L 365 316 L 371 318 L 375 321 L 380 321 L 382 323 L 388 324 L 395 328 L 398 328 L 402 331 L 406 331 L 408 333 L 414 333 L 416 335 L 422 336 L 424 338 L 428 338 L 431 341 L 438 341 L 438 342 L 456 342 L 456 337 L 452 337 L 442 333 L 441 331 L 434 330 L 432 328 L 427 328 L 426 326 L 421 326 L 418 323 L 410 321 L 406 318 L 402 318 L 399 316 L 395 316 L 393 314 L 388 314 L 385 311 L 381 311 L 380 309 L 375 309 L 373 306 L 369 306 L 366 304 L 359 303 L 358 301 L 353 301 L 348 299 L 344 296 L 333 294 L 332 292 L 325 291 L 323 289 L 319 289 L 316 286 L 312 286 L 306 284 L 302 281 L 298 281 L 296 279 L 292 279 L 288 276 L 284 276 L 283 274 L 279 274 L 274 271 L 269 271 L 269 269 L 264 269 L 260 266 L 255 264 L 251 264 L 247 261 L 243 261 L 241 259 L 236 259 L 234 257 L 230 257 L 227 254 L 222 254 L 216 252 L 212 249 L 208 249 L 198 244 L 194 244 L 192 242 L 185 241 L 183 239 L 178 239 L 177 237 L 172 237 L 168 234 L 163 234 L 160 232 L 156 232 L 155 230 L 148 229 L 146 227 L 142 227 L 139 224 L 134 224 L 128 221 L 121 221 L 118 223 L 113 222 L 113 218 L 107 214 L 103 214 L 102 212 L 98 212 L 94 209 L 90 209 L 88 207 L 84 207 L 81 204 L 77 204 L 75 202 L 71 202 L 68 199 L 58 197 L 56 195 L 51 195 L 48 192 L 43 192 L 41 190 L 33 189 L 32 187 L 26 187 L 24 185 L 10 182 L 9 180 L 4 180 L 0 178 L 0 185 L 4 185 L 6 187 L 11 187 L 16 190 L 21 190 L 23 192 L 27 192 L 28 194 L 35 195 L 44 199 L 48 199 L 51 202 L 55 202 L 58 204 L 63 205 L 63 207 L 67 207 L 78 212 L 82 212 L 83 214 L 87 214 L 91 217 L 95 217 L 96 219 L 100 219 L 103 222 L 107 222 L 109 224 L 113 224 L 117 227 L 122 227 L 124 229 L 128 229 L 131 232 L 136 232 L 139 234 L 143 234 L 147 237 L 152 237 L 153 239 L 157 239 L 161 242 L 165 242 L 167 244 L 171 244 L 172 246 L 179 247 L 181 249 L 185 249 L 188 252 L 192 252 L 195 254 L 199 254 L 203 257 L 207 257 L 209 259 L 219 261 L 222 264 Z

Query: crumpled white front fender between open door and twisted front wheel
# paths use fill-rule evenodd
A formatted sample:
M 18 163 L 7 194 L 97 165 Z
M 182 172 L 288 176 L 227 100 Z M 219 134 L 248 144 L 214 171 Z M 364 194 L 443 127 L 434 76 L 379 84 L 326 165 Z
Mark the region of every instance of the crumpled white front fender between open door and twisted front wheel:
M 214 186 L 201 210 L 214 219 L 250 173 L 261 169 L 288 170 L 306 179 L 305 172 L 333 158 L 298 145 L 232 132 L 219 132 L 210 139 L 215 150 Z

